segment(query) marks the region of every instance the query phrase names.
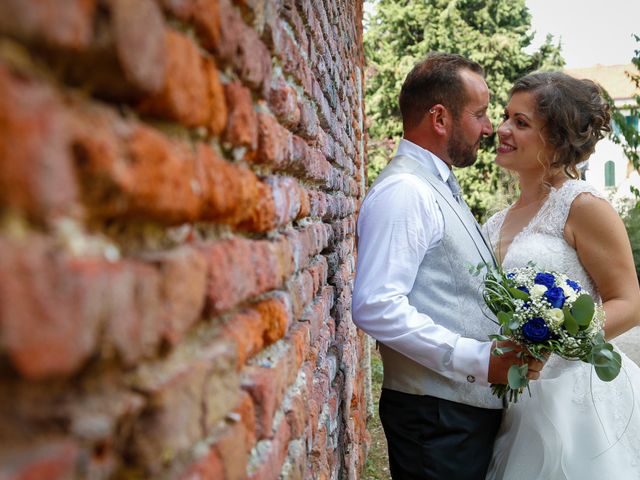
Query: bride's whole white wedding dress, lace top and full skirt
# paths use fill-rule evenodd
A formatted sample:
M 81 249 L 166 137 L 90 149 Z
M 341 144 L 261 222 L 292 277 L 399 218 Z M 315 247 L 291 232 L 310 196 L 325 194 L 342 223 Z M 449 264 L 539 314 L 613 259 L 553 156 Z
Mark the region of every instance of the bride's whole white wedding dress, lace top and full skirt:
M 563 230 L 573 200 L 597 191 L 579 180 L 552 189 L 545 204 L 509 246 L 503 267 L 529 261 L 578 280 L 597 292 Z M 507 210 L 485 225 L 491 244 Z M 597 297 L 599 298 L 599 297 Z M 615 344 L 615 341 L 613 342 Z M 530 382 L 505 411 L 487 479 L 640 479 L 640 368 L 622 354 L 622 370 L 609 383 L 591 365 L 552 355 L 540 380 Z

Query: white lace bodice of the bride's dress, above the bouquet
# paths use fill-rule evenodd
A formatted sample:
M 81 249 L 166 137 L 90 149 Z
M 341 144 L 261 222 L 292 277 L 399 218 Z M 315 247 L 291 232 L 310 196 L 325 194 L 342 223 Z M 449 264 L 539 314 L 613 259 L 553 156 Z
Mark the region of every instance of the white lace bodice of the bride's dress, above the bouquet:
M 564 239 L 564 226 L 571 204 L 581 193 L 604 198 L 592 185 L 582 180 L 568 180 L 559 188 L 551 188 L 545 203 L 529 224 L 509 245 L 502 266 L 523 267 L 532 261 L 545 270 L 555 270 L 577 280 L 594 298 L 599 297 L 593 280 L 584 269 L 576 250 Z M 500 229 L 509 208 L 493 215 L 484 225 L 485 234 L 496 250 Z

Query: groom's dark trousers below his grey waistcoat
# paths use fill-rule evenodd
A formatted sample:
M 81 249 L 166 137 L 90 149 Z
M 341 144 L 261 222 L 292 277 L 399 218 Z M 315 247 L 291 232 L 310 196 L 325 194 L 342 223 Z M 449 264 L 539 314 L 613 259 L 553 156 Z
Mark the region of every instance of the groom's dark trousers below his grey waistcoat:
M 383 389 L 380 419 L 394 480 L 484 480 L 502 410 Z

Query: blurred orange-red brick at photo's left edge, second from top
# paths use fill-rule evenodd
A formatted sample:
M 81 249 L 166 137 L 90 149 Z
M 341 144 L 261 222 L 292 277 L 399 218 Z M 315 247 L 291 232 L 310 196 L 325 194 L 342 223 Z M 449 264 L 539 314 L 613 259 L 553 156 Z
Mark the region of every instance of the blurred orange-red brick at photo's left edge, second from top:
M 49 87 L 0 66 L 0 204 L 44 221 L 77 199 L 70 125 Z

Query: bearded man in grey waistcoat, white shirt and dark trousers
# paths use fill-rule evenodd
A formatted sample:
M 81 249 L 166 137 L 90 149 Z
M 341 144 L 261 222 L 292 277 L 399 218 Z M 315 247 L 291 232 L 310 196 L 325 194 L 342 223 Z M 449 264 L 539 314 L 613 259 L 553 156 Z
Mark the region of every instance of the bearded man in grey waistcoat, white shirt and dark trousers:
M 483 479 L 502 416 L 489 383 L 507 383 L 515 354 L 491 355 L 482 310 L 493 263 L 452 166 L 476 161 L 493 131 L 475 62 L 431 54 L 400 92 L 403 139 L 358 218 L 353 320 L 380 345 L 380 418 L 397 479 Z M 540 362 L 531 362 L 537 378 Z

